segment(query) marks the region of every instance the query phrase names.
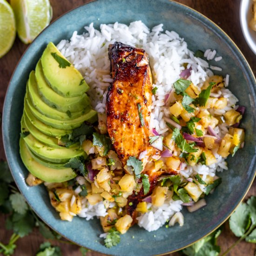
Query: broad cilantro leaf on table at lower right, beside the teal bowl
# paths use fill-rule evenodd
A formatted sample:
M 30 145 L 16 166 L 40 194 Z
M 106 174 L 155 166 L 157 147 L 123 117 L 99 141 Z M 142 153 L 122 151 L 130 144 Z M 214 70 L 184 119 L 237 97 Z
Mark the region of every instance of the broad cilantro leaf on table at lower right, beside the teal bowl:
M 242 202 L 229 218 L 229 228 L 235 236 L 243 236 L 250 222 L 249 206 Z

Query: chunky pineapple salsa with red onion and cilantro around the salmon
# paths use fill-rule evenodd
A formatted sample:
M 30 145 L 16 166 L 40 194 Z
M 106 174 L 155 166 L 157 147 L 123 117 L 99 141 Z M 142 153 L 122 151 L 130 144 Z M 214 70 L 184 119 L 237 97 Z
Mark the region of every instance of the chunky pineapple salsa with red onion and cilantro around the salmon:
M 135 206 L 139 218 L 152 207 L 161 207 L 168 200 L 182 200 L 189 211 L 205 206 L 204 196 L 221 183 L 221 178 L 194 174 L 185 179 L 179 172 L 199 163 L 211 166 L 217 161 L 216 155 L 223 158 L 229 154 L 234 156 L 237 149 L 243 147 L 244 130 L 238 125 L 244 108 L 231 109 L 224 115 L 215 114 L 215 110 L 227 106 L 225 97 L 214 97 L 224 87 L 222 81 L 221 76 L 214 75 L 202 88 L 188 80 L 179 79 L 175 82 L 173 99 L 168 106 L 170 115 L 165 118 L 169 131 L 164 136 L 155 131 L 155 136 L 148 138 L 151 145 L 162 148 L 162 154 L 150 163 L 150 168 L 156 173 L 171 171 L 170 175 L 165 172 L 159 176 L 155 188 L 149 194 L 148 175 L 141 175 L 147 163 L 140 160 L 143 158 L 141 155 L 129 157 L 127 165 L 122 168 L 112 147 L 113 141 L 108 137 L 104 114 L 98 114 L 97 127 L 84 123 L 83 129 L 77 128 L 72 135 L 62 136 L 60 145 L 70 147 L 80 141 L 88 157 L 72 158 L 66 164 L 66 167 L 78 173 L 74 179 L 44 183 L 51 204 L 60 213 L 61 219 L 72 221 L 74 216 L 81 214 L 82 209 L 102 203 L 106 214 L 100 217 L 101 226 L 107 234 L 105 245 L 111 247 L 119 242 L 118 234 L 126 233 L 136 221 L 127 214 L 127 209 L 133 207 L 134 202 L 129 196 L 134 191 L 139 194 L 142 188 L 144 195 L 147 195 Z M 215 131 L 219 124 L 225 124 L 228 130 L 222 138 Z M 38 179 L 35 180 L 30 174 L 27 183 L 34 185 L 34 182 L 38 183 Z M 183 225 L 180 212 L 171 217 L 169 225 L 175 222 Z

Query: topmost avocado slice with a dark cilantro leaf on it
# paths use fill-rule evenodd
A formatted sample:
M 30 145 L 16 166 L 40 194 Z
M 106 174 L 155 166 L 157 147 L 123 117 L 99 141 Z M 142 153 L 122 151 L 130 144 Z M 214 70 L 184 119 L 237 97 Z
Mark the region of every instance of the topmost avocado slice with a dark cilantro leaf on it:
M 88 91 L 88 84 L 81 73 L 52 42 L 44 50 L 41 62 L 46 81 L 57 94 L 70 98 Z

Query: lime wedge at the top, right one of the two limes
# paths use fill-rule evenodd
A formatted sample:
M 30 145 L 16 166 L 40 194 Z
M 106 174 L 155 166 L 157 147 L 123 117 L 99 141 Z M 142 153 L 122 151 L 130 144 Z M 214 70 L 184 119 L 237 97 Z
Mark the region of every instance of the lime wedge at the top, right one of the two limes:
M 20 40 L 31 43 L 49 25 L 52 9 L 49 0 L 11 0 Z

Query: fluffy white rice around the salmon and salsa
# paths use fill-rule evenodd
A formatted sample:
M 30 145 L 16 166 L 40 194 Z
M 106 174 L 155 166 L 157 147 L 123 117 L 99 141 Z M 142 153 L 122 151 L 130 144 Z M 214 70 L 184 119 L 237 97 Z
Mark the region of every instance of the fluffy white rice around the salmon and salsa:
M 132 22 L 129 26 L 115 22 L 115 24 L 101 24 L 100 31 L 96 30 L 91 23 L 85 27 L 85 32 L 81 35 L 75 31 L 70 39 L 62 40 L 58 44 L 61 53 L 74 64 L 81 74 L 84 76 L 90 90 L 89 97 L 93 108 L 99 113 L 105 112 L 107 89 L 112 78 L 110 77 L 110 63 L 108 60 L 108 46 L 115 41 L 120 41 L 134 47 L 143 48 L 150 57 L 150 66 L 153 75 L 153 87 L 157 87 L 156 94 L 152 96 L 152 116 L 151 126 L 160 134 L 168 131 L 168 127 L 163 120 L 164 116 L 169 115 L 168 107 L 164 106 L 165 95 L 170 93 L 174 88 L 173 83 L 180 78 L 183 63 L 188 63 L 187 68 L 191 68 L 191 75 L 187 78 L 199 87 L 203 82 L 213 75 L 212 70 L 222 71 L 221 67 L 209 66 L 207 61 L 194 56 L 187 43 L 183 38 L 174 31 L 163 32 L 163 25 L 159 24 L 151 30 L 141 21 Z M 207 49 L 204 57 L 207 60 L 213 60 L 216 51 Z M 222 57 L 218 56 L 215 61 L 221 61 Z M 229 85 L 229 75 L 224 79 L 225 85 Z M 228 100 L 228 105 L 224 110 L 215 110 L 215 115 L 222 115 L 225 111 L 234 108 L 237 98 L 227 89 L 222 88 L 217 97 L 224 96 Z M 228 132 L 224 124 L 215 128 L 218 135 L 223 137 Z M 200 174 L 205 180 L 207 175 L 215 176 L 216 171 L 228 169 L 224 159 L 214 153 L 217 159 L 215 164 L 211 166 L 196 164 L 194 167 L 187 166 L 180 171 L 183 178 L 190 175 Z M 80 184 L 84 181 L 79 179 Z M 203 187 L 202 187 L 203 190 Z M 79 186 L 75 193 L 81 192 Z M 153 231 L 164 225 L 176 212 L 181 211 L 182 201 L 173 201 L 172 199 L 165 202 L 161 207 L 154 207 L 148 203 L 147 213 L 137 218 L 138 225 Z M 107 212 L 103 202 L 92 206 L 86 199 L 82 200 L 82 210 L 80 217 L 86 220 L 92 219 L 94 216 L 106 216 Z

